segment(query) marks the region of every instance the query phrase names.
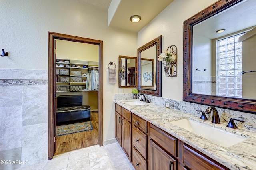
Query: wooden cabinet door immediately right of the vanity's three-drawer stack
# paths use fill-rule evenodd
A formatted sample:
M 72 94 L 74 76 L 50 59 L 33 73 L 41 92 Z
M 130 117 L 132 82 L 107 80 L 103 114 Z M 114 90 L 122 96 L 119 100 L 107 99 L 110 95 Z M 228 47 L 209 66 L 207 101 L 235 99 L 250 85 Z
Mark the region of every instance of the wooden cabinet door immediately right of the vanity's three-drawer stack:
M 150 170 L 176 170 L 176 160 L 150 140 Z

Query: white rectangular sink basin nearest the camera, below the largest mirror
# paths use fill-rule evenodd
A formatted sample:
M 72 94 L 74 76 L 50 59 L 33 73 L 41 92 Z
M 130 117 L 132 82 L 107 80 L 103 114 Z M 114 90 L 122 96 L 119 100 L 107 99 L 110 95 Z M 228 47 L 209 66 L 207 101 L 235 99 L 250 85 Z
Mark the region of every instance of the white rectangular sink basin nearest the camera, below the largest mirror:
M 181 119 L 178 121 L 172 121 L 170 123 L 178 127 L 184 128 L 190 132 L 193 132 L 194 134 L 206 138 L 211 142 L 223 147 L 233 146 L 234 144 L 237 144 L 246 139 L 242 136 L 237 136 L 224 130 L 210 127 L 208 125 L 190 119 Z

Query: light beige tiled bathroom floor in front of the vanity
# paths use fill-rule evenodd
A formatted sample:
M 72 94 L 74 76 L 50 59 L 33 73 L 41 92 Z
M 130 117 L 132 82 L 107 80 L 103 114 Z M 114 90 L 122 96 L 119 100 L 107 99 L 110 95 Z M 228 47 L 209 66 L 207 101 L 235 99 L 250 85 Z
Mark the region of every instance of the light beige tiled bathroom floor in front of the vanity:
M 134 170 L 120 145 L 90 146 L 19 170 Z

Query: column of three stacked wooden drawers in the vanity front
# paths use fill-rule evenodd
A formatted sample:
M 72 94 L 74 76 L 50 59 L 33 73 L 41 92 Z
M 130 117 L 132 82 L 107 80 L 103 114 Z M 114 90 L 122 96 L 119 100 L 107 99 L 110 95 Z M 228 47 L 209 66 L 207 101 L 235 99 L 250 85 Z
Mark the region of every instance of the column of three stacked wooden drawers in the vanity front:
M 136 170 L 148 169 L 148 122 L 132 114 L 132 165 Z

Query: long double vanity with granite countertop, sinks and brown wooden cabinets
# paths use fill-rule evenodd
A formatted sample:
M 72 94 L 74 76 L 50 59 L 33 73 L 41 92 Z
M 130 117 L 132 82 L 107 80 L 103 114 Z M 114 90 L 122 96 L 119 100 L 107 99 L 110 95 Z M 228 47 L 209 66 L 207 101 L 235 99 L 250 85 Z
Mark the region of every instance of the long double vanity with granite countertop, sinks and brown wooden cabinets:
M 116 139 L 136 170 L 256 169 L 256 132 L 136 99 L 115 100 Z

